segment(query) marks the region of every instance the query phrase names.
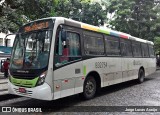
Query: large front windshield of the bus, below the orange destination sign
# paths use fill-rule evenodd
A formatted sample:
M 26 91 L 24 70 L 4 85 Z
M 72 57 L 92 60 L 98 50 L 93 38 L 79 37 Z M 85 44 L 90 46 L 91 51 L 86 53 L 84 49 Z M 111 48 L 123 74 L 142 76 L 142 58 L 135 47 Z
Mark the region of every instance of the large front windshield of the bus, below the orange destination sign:
M 48 29 L 17 34 L 12 69 L 41 69 L 48 65 L 52 31 Z

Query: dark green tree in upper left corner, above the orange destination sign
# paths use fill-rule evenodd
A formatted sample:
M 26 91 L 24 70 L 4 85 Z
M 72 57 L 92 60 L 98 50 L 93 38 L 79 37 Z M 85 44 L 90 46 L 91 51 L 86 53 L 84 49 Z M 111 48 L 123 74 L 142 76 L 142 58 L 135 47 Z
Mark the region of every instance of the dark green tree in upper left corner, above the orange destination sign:
M 57 0 L 5 0 L 0 5 L 0 31 L 16 32 L 28 21 L 54 14 Z

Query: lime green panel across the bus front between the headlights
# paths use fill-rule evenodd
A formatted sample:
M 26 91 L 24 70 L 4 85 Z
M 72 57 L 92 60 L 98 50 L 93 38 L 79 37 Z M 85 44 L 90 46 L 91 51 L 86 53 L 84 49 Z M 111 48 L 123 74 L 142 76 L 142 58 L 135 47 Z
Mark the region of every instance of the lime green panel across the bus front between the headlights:
M 36 77 L 32 80 L 26 80 L 26 79 L 17 79 L 17 78 L 10 78 L 11 83 L 17 86 L 23 86 L 23 87 L 35 87 L 36 83 L 38 81 L 39 77 Z

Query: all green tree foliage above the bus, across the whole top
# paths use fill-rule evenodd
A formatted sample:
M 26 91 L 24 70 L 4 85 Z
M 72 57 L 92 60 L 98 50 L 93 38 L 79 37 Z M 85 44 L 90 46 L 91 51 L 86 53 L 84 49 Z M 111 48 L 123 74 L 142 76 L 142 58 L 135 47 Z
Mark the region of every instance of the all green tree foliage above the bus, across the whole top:
M 113 17 L 107 20 L 107 14 Z M 154 41 L 156 48 L 160 46 L 158 0 L 0 0 L 0 32 L 16 32 L 29 21 L 50 16 L 95 26 L 108 22 L 115 30 Z

